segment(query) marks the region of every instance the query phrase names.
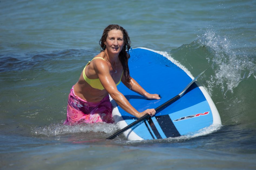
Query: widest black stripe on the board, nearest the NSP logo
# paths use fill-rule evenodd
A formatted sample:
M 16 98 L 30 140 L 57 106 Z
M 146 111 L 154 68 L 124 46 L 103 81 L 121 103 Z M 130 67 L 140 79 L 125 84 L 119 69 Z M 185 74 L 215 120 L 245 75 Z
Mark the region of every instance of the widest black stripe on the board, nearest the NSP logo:
M 181 136 L 169 115 L 156 116 L 156 120 L 166 137 Z

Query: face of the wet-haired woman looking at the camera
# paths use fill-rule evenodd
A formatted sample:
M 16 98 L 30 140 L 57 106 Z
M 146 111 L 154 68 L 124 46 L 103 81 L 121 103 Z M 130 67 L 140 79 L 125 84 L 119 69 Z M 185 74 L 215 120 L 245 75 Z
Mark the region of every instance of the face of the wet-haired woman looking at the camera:
M 121 30 L 110 30 L 104 42 L 106 50 L 113 54 L 119 54 L 124 46 L 124 38 Z

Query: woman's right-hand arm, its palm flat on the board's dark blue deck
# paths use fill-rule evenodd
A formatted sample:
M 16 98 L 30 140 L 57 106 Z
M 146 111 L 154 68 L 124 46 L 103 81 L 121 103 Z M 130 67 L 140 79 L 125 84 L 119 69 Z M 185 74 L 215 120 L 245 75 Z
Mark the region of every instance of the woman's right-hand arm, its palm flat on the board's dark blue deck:
M 142 88 L 140 84 L 136 82 L 136 80 L 134 80 L 132 77 L 130 77 L 130 82 L 128 83 L 126 82 L 125 77 L 123 75 L 121 81 L 127 88 L 146 97 L 147 99 L 157 99 L 157 100 L 160 99 L 158 94 L 150 94 L 146 90 L 144 90 L 144 88 Z

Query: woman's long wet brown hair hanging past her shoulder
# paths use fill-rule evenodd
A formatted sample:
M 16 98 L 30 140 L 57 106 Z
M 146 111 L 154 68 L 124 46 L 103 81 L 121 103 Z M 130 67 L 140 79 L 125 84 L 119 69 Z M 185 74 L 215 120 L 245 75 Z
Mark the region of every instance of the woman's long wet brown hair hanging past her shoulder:
M 107 34 L 109 33 L 110 30 L 114 30 L 114 29 L 120 30 L 123 33 L 124 46 L 123 46 L 123 49 L 121 50 L 121 52 L 119 53 L 118 57 L 122 63 L 123 69 L 124 69 L 125 80 L 126 80 L 126 82 L 129 83 L 130 79 L 128 78 L 128 75 L 130 74 L 130 71 L 129 71 L 129 67 L 128 67 L 128 59 L 130 58 L 129 49 L 131 48 L 131 46 L 130 46 L 131 41 L 130 41 L 130 37 L 129 37 L 127 31 L 119 25 L 112 24 L 112 25 L 107 26 L 104 29 L 102 37 L 100 38 L 100 41 L 99 41 L 100 48 L 102 49 L 101 51 L 104 51 L 106 49 L 106 45 L 104 44 L 104 42 L 106 42 L 106 40 L 107 40 Z M 127 55 L 127 53 L 128 53 L 128 55 Z

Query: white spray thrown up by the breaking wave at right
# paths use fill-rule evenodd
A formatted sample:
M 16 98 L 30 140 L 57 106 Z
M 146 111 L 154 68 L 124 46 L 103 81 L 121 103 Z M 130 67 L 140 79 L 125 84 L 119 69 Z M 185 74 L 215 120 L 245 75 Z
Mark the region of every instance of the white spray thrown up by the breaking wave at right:
M 195 42 L 201 46 L 208 47 L 208 50 L 213 54 L 213 58 L 207 58 L 208 62 L 212 63 L 215 74 L 208 81 L 210 93 L 213 87 L 210 84 L 219 84 L 225 96 L 228 91 L 233 93 L 233 89 L 241 81 L 251 75 L 255 77 L 256 67 L 252 58 L 246 54 L 238 55 L 232 49 L 232 44 L 228 41 L 228 37 L 221 37 L 216 35 L 214 31 L 207 30 L 205 34 L 198 36 Z

